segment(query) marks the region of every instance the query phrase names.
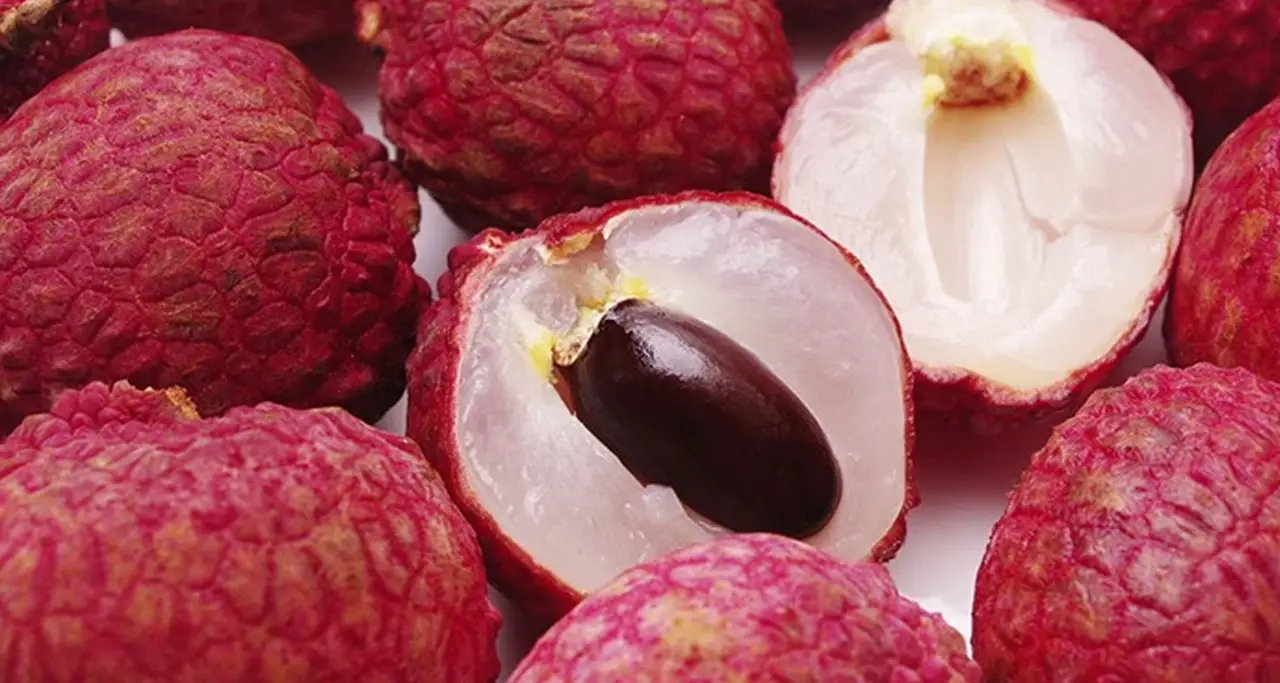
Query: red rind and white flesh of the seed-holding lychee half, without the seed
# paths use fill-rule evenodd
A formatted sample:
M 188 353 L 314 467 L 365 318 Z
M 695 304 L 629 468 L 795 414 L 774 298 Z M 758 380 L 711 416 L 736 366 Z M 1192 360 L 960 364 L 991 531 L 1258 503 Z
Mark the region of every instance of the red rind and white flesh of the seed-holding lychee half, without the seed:
M 675 485 L 643 485 L 558 395 L 557 340 L 621 308 L 611 301 L 714 327 L 812 412 L 840 489 L 804 541 L 846 559 L 901 544 L 915 494 L 897 322 L 847 252 L 773 202 L 684 193 L 485 232 L 451 253 L 439 295 L 410 358 L 408 434 L 476 527 L 492 578 L 531 613 L 557 618 L 627 567 L 730 531 Z

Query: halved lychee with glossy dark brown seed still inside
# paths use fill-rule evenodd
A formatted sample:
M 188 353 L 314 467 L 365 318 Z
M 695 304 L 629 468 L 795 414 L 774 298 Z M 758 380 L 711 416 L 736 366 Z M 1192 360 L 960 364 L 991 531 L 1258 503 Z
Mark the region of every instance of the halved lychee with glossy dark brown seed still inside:
M 856 260 L 773 202 L 684 193 L 485 232 L 439 289 L 408 432 L 531 614 L 728 532 L 846 559 L 901 544 L 897 321 Z

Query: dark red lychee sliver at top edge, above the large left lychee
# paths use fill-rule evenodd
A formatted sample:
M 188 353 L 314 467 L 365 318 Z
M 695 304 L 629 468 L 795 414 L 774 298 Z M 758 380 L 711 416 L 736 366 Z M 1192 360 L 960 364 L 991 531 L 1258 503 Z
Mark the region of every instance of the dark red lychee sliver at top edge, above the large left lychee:
M 129 37 L 210 28 L 302 45 L 349 36 L 349 0 L 109 0 L 111 24 Z

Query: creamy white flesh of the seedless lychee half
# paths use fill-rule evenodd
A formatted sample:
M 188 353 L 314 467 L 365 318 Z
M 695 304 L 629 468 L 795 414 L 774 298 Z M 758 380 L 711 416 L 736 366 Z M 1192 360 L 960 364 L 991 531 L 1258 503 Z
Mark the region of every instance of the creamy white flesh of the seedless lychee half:
M 1098 24 L 1032 0 L 915 5 L 891 10 L 908 41 L 863 50 L 797 102 L 776 194 L 863 261 L 918 363 L 1052 386 L 1148 306 L 1190 193 L 1188 116 Z M 1025 41 L 1024 98 L 925 106 L 923 46 L 996 33 Z

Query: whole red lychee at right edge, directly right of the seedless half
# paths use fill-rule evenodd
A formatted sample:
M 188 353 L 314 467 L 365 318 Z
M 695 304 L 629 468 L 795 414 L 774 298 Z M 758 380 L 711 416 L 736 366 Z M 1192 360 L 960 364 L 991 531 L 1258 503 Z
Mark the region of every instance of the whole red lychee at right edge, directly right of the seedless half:
M 1204 168 L 1174 266 L 1165 340 L 1176 365 L 1280 380 L 1280 102 Z

